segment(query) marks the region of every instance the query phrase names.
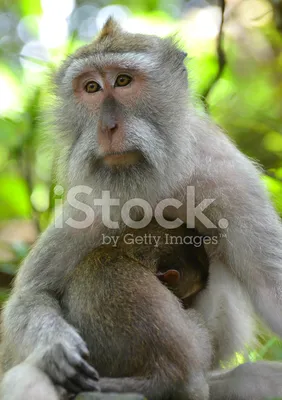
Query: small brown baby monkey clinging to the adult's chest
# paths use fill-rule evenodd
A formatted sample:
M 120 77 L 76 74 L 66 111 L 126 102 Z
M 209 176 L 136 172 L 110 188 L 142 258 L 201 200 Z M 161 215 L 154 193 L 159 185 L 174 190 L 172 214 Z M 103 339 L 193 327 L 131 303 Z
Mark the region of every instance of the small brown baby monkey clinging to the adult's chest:
M 206 266 L 197 261 L 197 271 L 194 247 L 191 258 L 187 245 L 182 254 L 181 245 L 168 244 L 170 234 L 155 223 L 136 232 L 158 236 L 158 247 L 126 244 L 125 235 L 134 235 L 127 230 L 116 247 L 92 251 L 68 278 L 64 318 L 84 338 L 102 392 L 139 392 L 149 400 L 208 399 L 208 333 L 196 311 L 185 311 L 160 282 L 189 297 L 203 287 Z M 185 234 L 187 229 L 173 230 L 178 238 Z

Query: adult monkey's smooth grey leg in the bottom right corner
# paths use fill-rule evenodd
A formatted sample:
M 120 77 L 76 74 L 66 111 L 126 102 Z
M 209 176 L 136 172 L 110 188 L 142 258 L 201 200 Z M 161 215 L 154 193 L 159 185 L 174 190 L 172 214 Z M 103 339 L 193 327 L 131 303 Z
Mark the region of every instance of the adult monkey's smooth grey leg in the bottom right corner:
M 282 397 L 282 363 L 258 361 L 209 373 L 211 400 L 264 400 Z

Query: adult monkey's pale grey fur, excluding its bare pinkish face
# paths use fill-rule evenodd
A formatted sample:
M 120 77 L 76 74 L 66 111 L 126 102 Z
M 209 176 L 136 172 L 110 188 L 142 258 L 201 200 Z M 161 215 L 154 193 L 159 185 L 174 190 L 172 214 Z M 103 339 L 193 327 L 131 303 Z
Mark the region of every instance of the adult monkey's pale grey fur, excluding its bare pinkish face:
M 221 241 L 217 248 L 208 249 L 212 283 L 196 303 L 217 343 L 216 364 L 219 358 L 241 350 L 240 335 L 248 340 L 252 337 L 251 308 L 248 305 L 244 310 L 248 296 L 270 328 L 282 335 L 281 222 L 256 165 L 240 153 L 208 117 L 198 115 L 188 101 L 187 74 L 177 48 L 167 40 L 144 36 L 145 50 L 140 54 L 132 53 L 130 43 L 134 46 L 136 41 L 139 46 L 142 38 L 119 35 L 125 36 L 124 52 L 111 50 L 115 38 L 113 43 L 111 38 L 106 38 L 104 52 L 95 53 L 94 43 L 92 50 L 87 48 L 81 55 L 68 59 L 56 77 L 54 120 L 67 149 L 68 185 L 83 184 L 93 188 L 89 203 L 106 189 L 111 191 L 112 197 L 121 199 L 121 205 L 128 199 L 140 197 L 155 207 L 163 198 L 183 201 L 187 186 L 196 187 L 197 203 L 206 198 L 216 199 L 205 214 L 216 226 L 220 218 L 226 218 L 229 227 L 217 229 L 222 233 Z M 116 46 L 121 46 L 120 37 Z M 126 64 L 140 67 L 147 74 L 142 99 L 136 107 L 125 110 L 123 143 L 125 150 L 140 150 L 145 161 L 140 168 L 121 170 L 118 174 L 97 162 L 101 156 L 96 135 L 97 116 L 74 98 L 68 78 L 83 66 L 103 68 L 107 60 L 120 62 L 123 69 Z M 118 208 L 115 212 L 118 218 Z M 73 211 L 66 206 L 65 213 L 70 215 Z M 186 218 L 182 209 L 175 216 Z M 200 224 L 197 227 L 201 232 L 206 231 Z M 64 321 L 57 299 L 64 290 L 68 274 L 91 248 L 99 245 L 103 232 L 108 233 L 97 211 L 95 224 L 84 231 L 50 226 L 39 239 L 20 269 L 13 295 L 4 310 L 4 332 L 13 347 L 13 362 L 24 360 L 37 347 L 52 346 L 58 336 L 62 336 L 67 345 L 79 348 L 81 340 Z M 224 268 L 226 286 L 218 289 L 213 277 L 219 277 L 218 271 Z M 238 288 L 236 292 L 234 285 Z M 217 290 L 222 296 L 217 295 Z M 233 297 L 232 293 L 237 295 Z M 235 312 L 232 302 L 238 302 Z M 216 321 L 210 320 L 209 315 L 214 315 Z M 233 330 L 226 340 L 221 340 L 223 324 L 228 320 L 233 322 Z M 7 365 L 10 365 L 9 360 Z M 268 369 L 267 364 L 263 371 L 258 369 L 258 374 L 265 370 L 270 375 L 272 367 Z M 244 371 L 248 382 L 248 367 Z M 254 379 L 252 373 L 249 379 Z M 273 381 L 272 387 L 277 392 L 281 384 L 276 375 Z M 238 380 L 228 378 L 227 384 L 234 385 L 235 392 L 239 390 Z M 252 397 L 249 397 L 247 385 L 244 387 L 245 392 L 240 392 L 238 398 L 249 400 Z M 250 390 L 255 389 L 252 386 Z

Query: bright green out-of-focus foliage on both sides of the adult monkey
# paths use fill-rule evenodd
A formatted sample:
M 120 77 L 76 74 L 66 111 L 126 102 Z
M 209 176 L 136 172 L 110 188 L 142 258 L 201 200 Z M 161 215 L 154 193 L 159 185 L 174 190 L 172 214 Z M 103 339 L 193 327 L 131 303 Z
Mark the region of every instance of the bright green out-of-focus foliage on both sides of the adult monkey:
M 226 65 L 220 79 L 210 87 L 218 70 L 216 36 L 211 34 L 213 28 L 212 25 L 209 27 L 207 20 L 212 10 L 208 7 L 191 8 L 185 18 L 176 19 L 175 16 L 181 14 L 181 3 L 177 0 L 170 5 L 156 0 L 119 2 L 133 13 L 130 16 L 131 27 L 157 34 L 178 32 L 189 55 L 189 80 L 195 101 L 199 103 L 203 93 L 210 88 L 206 99 L 210 114 L 238 147 L 262 166 L 262 179 L 282 215 L 282 37 L 268 12 L 267 0 L 257 0 L 262 17 L 242 22 L 240 7 L 247 7 L 247 3 L 238 2 L 238 10 L 229 13 L 224 37 Z M 22 57 L 21 63 L 19 54 L 23 45 L 32 40 L 39 42 L 38 27 L 43 26 L 40 18 L 48 17 L 44 4 L 46 7 L 46 1 L 40 0 L 0 0 L 0 18 L 4 13 L 10 15 L 10 20 L 5 20 L 10 24 L 6 32 L 1 31 L 6 25 L 0 24 L 0 273 L 9 276 L 15 273 L 27 254 L 30 242 L 47 226 L 54 209 L 54 162 L 52 151 L 49 154 L 42 142 L 39 122 L 46 111 L 46 73 L 50 61 L 52 65 L 57 64 L 70 49 L 83 41 L 79 27 L 72 30 L 69 26 L 69 40 L 64 45 L 48 47 L 45 44 L 48 62 L 44 57 L 40 59 L 37 54 L 30 54 Z M 77 7 L 83 4 L 86 3 L 77 1 Z M 105 6 L 102 0 L 89 1 L 89 4 L 97 10 Z M 189 1 L 187 5 L 190 5 Z M 250 15 L 252 12 L 255 12 L 255 7 L 248 9 Z M 244 13 L 244 18 L 247 14 Z M 59 18 L 57 13 L 54 15 Z M 36 17 L 39 22 L 26 22 L 26 31 L 19 38 L 19 23 L 30 21 L 24 20 L 25 17 Z M 56 18 L 49 26 L 50 37 L 56 27 Z M 47 35 L 46 43 L 49 43 L 48 39 Z M 56 148 L 56 142 L 52 146 Z M 12 222 L 23 221 L 31 221 L 34 226 L 35 233 L 29 234 L 29 240 L 26 240 L 29 225 L 19 229 L 17 235 L 12 230 L 9 235 L 1 236 L 1 231 L 4 229 L 5 232 Z M 6 295 L 7 289 L 0 291 L 0 302 Z M 282 358 L 282 345 L 275 337 L 261 335 L 259 343 L 257 348 L 248 351 L 247 358 Z M 243 355 L 236 355 L 234 363 L 245 359 Z

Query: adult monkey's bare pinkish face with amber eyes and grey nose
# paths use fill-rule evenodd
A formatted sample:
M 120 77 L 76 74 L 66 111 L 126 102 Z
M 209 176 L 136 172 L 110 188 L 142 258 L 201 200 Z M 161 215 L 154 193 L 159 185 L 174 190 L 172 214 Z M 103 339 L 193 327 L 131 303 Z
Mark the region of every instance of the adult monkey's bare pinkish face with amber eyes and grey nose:
M 136 114 L 146 88 L 141 71 L 121 69 L 110 60 L 99 67 L 88 67 L 73 79 L 74 96 L 96 117 L 95 158 L 97 167 L 124 167 L 144 162 L 144 151 L 134 139 L 138 130 L 130 116 Z M 137 117 L 138 119 L 138 117 Z M 138 122 L 138 121 L 137 121 Z M 153 132 L 149 123 L 143 132 Z

